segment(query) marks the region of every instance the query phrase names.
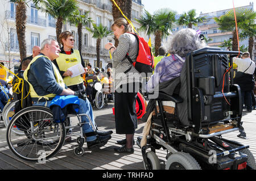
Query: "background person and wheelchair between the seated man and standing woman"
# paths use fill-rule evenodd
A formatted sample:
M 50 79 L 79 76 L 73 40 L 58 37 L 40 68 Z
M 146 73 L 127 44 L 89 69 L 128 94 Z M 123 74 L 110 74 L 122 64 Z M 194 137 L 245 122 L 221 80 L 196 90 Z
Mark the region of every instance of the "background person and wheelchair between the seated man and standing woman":
M 100 91 L 101 86 L 99 89 L 96 87 L 96 83 L 101 85 L 100 82 L 100 79 L 94 74 L 94 71 L 92 69 L 88 69 L 88 77 L 85 78 L 85 91 L 92 106 L 95 105 L 98 109 L 101 109 L 104 106 L 104 95 Z

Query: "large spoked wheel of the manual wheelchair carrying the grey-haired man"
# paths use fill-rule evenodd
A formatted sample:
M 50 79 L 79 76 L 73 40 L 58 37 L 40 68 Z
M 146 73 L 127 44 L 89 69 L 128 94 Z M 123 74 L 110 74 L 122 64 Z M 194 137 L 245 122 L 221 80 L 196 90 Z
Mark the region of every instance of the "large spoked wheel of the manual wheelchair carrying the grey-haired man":
M 23 131 L 24 135 L 14 133 L 14 126 Z M 6 132 L 10 150 L 17 157 L 31 162 L 55 155 L 64 139 L 64 123 L 53 123 L 51 110 L 42 106 L 27 107 L 16 113 Z

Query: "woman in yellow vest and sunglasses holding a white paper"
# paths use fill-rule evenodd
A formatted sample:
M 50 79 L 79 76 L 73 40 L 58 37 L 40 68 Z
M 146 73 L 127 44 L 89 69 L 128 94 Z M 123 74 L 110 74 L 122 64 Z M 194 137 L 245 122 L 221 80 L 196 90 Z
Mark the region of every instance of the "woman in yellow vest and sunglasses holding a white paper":
M 57 66 L 60 70 L 60 75 L 63 77 L 65 84 L 69 89 L 73 91 L 83 90 L 83 82 L 84 79 L 81 75 L 77 75 L 76 77 L 72 77 L 72 72 L 68 70 L 74 65 L 82 64 L 84 67 L 85 73 L 85 64 L 82 60 L 81 53 L 79 50 L 74 50 L 75 39 L 71 32 L 65 31 L 60 33 L 60 43 L 63 47 L 60 48 L 61 52 L 59 53 L 59 57 L 56 60 L 53 60 L 53 64 Z

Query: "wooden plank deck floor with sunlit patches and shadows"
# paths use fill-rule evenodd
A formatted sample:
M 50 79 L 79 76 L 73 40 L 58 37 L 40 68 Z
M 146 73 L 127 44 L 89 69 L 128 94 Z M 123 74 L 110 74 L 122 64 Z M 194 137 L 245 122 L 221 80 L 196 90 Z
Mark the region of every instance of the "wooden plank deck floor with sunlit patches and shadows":
M 115 134 L 112 107 L 113 104 L 109 104 L 108 108 L 103 108 L 102 110 L 94 109 L 94 117 L 98 125 L 98 129 L 101 131 L 112 130 L 114 132 L 112 134 L 112 138 L 108 141 L 108 144 L 100 149 L 92 150 L 87 149 L 85 144 L 85 154 L 81 157 L 77 157 L 73 153 L 73 147 L 77 145 L 74 137 L 73 142 L 64 144 L 59 153 L 50 158 L 44 164 L 25 162 L 17 158 L 7 146 L 5 136 L 6 128 L 0 127 L 0 170 L 143 170 L 144 166 L 141 149 L 139 149 L 137 145 L 134 146 L 134 154 L 119 154 L 113 150 L 113 148 L 119 146 L 115 144 L 115 142 L 125 138 L 125 135 Z M 239 141 L 245 145 L 250 145 L 250 150 L 256 158 L 256 111 L 251 113 L 245 112 L 242 120 L 244 122 L 243 127 L 247 133 L 247 140 L 238 138 L 238 131 L 224 134 L 223 137 Z M 143 125 L 144 123 L 138 121 L 135 140 L 138 136 L 142 136 Z M 156 154 L 161 161 L 162 169 L 164 169 L 166 151 L 157 150 Z

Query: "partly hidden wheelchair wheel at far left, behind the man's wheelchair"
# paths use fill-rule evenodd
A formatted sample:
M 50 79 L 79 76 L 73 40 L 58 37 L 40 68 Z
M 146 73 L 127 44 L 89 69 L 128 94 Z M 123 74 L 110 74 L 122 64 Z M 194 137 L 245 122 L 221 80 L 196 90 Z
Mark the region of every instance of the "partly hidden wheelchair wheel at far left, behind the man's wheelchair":
M 3 122 L 5 123 L 5 127 L 7 128 L 8 125 L 10 124 L 11 118 L 13 117 L 13 115 L 15 114 L 14 112 L 14 106 L 15 103 L 18 102 L 19 100 L 16 100 L 14 102 L 9 102 L 8 104 L 6 104 L 5 108 L 3 108 Z M 24 135 L 23 131 L 20 131 L 18 127 L 16 127 L 14 125 L 14 129 L 12 130 L 14 133 L 18 134 L 18 135 Z

